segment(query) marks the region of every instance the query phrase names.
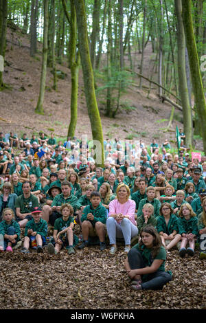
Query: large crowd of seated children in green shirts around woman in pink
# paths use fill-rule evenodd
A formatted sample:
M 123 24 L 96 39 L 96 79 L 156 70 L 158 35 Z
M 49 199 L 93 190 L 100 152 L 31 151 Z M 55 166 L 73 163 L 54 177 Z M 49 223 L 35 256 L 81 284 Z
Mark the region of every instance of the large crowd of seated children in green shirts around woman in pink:
M 115 140 L 114 145 L 106 140 L 106 160 L 104 168 L 101 168 L 95 164 L 93 148 L 76 138 L 73 142 L 68 138 L 64 144 L 56 144 L 54 136 L 50 141 L 44 134 L 36 141 L 33 136 L 36 153 L 44 152 L 43 155 L 26 154 L 30 148 L 27 137 L 18 141 L 24 152 L 19 155 L 9 151 L 8 143 L 0 139 L 0 155 L 3 155 L 0 159 L 8 161 L 7 169 L 3 163 L 1 167 L 1 172 L 5 172 L 1 177 L 0 196 L 2 252 L 12 252 L 18 247 L 23 234 L 22 253 L 29 253 L 30 248 L 43 252 L 47 246 L 50 254 L 57 254 L 63 247 L 67 248 L 69 255 L 75 254 L 82 238 L 73 234 L 75 225 L 84 231 L 87 243 L 89 239 L 91 243 L 98 241 L 100 250 L 106 249 L 104 232 L 110 203 L 117 199 L 118 186 L 124 183 L 129 189 L 129 198 L 136 205 L 135 221 L 139 235 L 135 249 L 138 249 L 138 257 L 142 248 L 153 248 L 155 241 L 159 241 L 158 245 L 166 251 L 177 247 L 181 257 L 193 256 L 199 243 L 200 258 L 206 258 L 205 156 L 201 161 L 192 161 L 185 150 L 172 156 L 170 146 L 168 150 L 165 145 L 159 148 L 153 140 L 150 148 L 146 149 L 140 142 L 139 147 L 133 146 L 131 155 L 125 157 L 119 140 Z M 10 140 L 10 148 L 14 143 L 15 140 Z M 8 193 L 7 182 L 11 184 Z M 13 205 L 9 203 L 11 196 Z M 31 201 L 31 196 L 35 200 L 33 197 Z M 84 225 L 86 220 L 90 226 Z M 51 225 L 54 233 L 48 236 Z M 147 245 L 147 239 L 152 243 L 150 241 Z M 78 247 L 83 249 L 85 244 Z M 133 289 L 147 288 L 139 278 L 141 270 L 133 269 L 131 250 L 127 250 L 126 270 L 133 280 Z M 149 263 L 151 266 L 151 261 Z

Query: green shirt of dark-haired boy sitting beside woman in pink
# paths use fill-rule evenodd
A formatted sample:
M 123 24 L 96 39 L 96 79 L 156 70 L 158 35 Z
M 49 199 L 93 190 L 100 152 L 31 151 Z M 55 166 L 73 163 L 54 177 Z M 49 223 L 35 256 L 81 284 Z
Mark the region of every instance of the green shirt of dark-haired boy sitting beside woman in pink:
M 100 203 L 98 205 L 98 208 L 94 209 L 93 206 L 91 205 L 91 203 L 89 205 L 86 206 L 86 208 L 84 208 L 83 213 L 82 213 L 82 217 L 81 217 L 81 221 L 85 221 L 87 220 L 87 214 L 92 213 L 94 216 L 93 221 L 91 221 L 91 223 L 93 225 L 95 225 L 96 222 L 102 222 L 102 223 L 106 223 L 106 208 L 104 208 L 104 206 L 102 205 L 102 203 Z

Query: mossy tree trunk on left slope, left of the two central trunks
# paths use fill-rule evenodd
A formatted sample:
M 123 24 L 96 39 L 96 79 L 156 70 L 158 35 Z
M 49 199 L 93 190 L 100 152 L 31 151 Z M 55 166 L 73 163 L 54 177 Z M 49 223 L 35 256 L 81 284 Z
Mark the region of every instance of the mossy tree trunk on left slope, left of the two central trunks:
M 44 0 L 44 31 L 43 31 L 43 56 L 41 67 L 41 84 L 36 113 L 44 113 L 43 101 L 45 96 L 45 83 L 47 77 L 47 51 L 48 51 L 48 23 L 49 23 L 49 0 Z

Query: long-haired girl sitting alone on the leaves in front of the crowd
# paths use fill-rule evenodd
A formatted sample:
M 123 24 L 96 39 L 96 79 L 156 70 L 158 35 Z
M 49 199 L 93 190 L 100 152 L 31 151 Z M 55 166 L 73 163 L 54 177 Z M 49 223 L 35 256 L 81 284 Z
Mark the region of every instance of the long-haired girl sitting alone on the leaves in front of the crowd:
M 137 243 L 125 260 L 125 268 L 135 291 L 162 289 L 172 280 L 171 271 L 165 271 L 166 251 L 154 227 L 148 225 L 141 230 L 141 241 Z

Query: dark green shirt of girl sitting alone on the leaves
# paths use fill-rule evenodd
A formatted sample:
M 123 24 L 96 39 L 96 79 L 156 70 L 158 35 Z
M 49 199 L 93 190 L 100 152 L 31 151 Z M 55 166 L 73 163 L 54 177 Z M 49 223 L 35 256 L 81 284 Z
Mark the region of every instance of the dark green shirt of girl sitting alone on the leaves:
M 136 248 L 140 252 L 142 258 L 144 259 L 146 267 L 150 267 L 155 259 L 161 259 L 163 260 L 163 263 L 158 270 L 165 271 L 166 250 L 162 245 L 159 248 L 159 252 L 154 259 L 152 258 L 152 248 L 147 248 L 145 245 L 141 245 L 141 247 L 139 247 L 139 243 L 137 243 L 137 245 L 134 245 L 133 248 Z M 170 274 L 172 273 L 170 272 Z M 142 275 L 142 280 L 145 282 L 147 280 L 147 277 L 148 274 Z

